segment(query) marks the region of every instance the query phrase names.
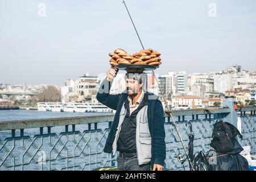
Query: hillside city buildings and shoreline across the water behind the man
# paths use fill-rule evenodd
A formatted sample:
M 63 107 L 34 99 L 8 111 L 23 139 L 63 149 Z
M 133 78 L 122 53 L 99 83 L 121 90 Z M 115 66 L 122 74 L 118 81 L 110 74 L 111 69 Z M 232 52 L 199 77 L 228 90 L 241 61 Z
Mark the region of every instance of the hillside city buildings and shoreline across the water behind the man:
M 122 93 L 125 89 L 125 72 L 119 73 L 112 83 L 110 94 Z M 2 102 L 32 103 L 48 102 L 93 102 L 106 74 L 98 76 L 85 73 L 77 78 L 66 79 L 65 85 L 0 85 Z M 156 94 L 160 101 L 176 109 L 220 106 L 226 96 L 232 96 L 238 104 L 254 105 L 256 72 L 233 65 L 219 72 L 187 73 L 168 72 L 164 75 L 147 73 L 143 87 Z M 163 102 L 163 105 L 164 102 Z

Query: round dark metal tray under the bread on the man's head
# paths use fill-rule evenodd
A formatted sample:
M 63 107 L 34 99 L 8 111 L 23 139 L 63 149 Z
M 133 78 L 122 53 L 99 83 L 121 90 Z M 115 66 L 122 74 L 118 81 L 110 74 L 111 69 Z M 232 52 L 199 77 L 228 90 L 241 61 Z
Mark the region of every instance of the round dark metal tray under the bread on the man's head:
M 143 71 L 152 71 L 159 68 L 159 65 L 148 65 L 148 64 L 118 64 L 117 68 L 125 70 L 128 73 L 142 73 Z

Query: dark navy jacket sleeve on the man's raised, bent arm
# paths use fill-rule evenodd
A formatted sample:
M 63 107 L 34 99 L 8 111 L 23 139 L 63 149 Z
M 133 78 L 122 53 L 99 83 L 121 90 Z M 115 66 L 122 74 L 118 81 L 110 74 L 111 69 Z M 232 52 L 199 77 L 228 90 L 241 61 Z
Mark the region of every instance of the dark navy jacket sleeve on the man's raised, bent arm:
M 110 109 L 117 110 L 117 105 L 121 94 L 109 94 L 112 82 L 105 78 L 105 80 L 102 81 L 100 88 L 98 89 L 96 98 L 99 102 L 105 106 L 108 106 Z

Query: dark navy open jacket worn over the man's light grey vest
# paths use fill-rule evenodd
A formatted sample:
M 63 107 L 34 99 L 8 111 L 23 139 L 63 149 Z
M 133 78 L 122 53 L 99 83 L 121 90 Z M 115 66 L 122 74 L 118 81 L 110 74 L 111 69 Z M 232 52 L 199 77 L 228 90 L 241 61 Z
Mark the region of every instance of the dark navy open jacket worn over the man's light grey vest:
M 112 144 L 115 138 L 115 131 L 117 130 L 119 122 L 119 114 L 123 102 L 127 99 L 127 94 L 109 94 L 112 82 L 104 80 L 101 83 L 100 89 L 97 93 L 97 100 L 102 104 L 108 106 L 110 109 L 117 110 L 115 113 L 114 121 L 106 140 L 104 152 L 109 154 L 112 153 Z M 105 87 L 107 86 L 107 88 Z M 164 131 L 164 110 L 162 103 L 155 97 L 154 94 L 146 92 L 148 94 L 148 127 L 151 135 L 151 165 L 160 164 L 164 166 L 164 159 L 166 159 L 166 143 L 164 141 L 165 131 Z M 151 96 L 151 97 L 150 97 Z M 152 99 L 152 98 L 155 99 Z

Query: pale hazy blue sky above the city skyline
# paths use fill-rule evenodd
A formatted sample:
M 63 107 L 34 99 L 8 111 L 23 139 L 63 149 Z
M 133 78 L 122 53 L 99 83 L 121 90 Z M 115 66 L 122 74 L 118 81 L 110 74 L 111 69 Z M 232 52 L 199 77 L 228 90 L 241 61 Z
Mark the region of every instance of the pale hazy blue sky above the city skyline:
M 38 15 L 45 3 L 46 17 Z M 209 4 L 217 5 L 216 17 Z M 255 0 L 126 0 L 156 71 L 256 71 Z M 122 0 L 0 0 L 0 83 L 64 84 L 109 69 L 109 52 L 141 45 Z

